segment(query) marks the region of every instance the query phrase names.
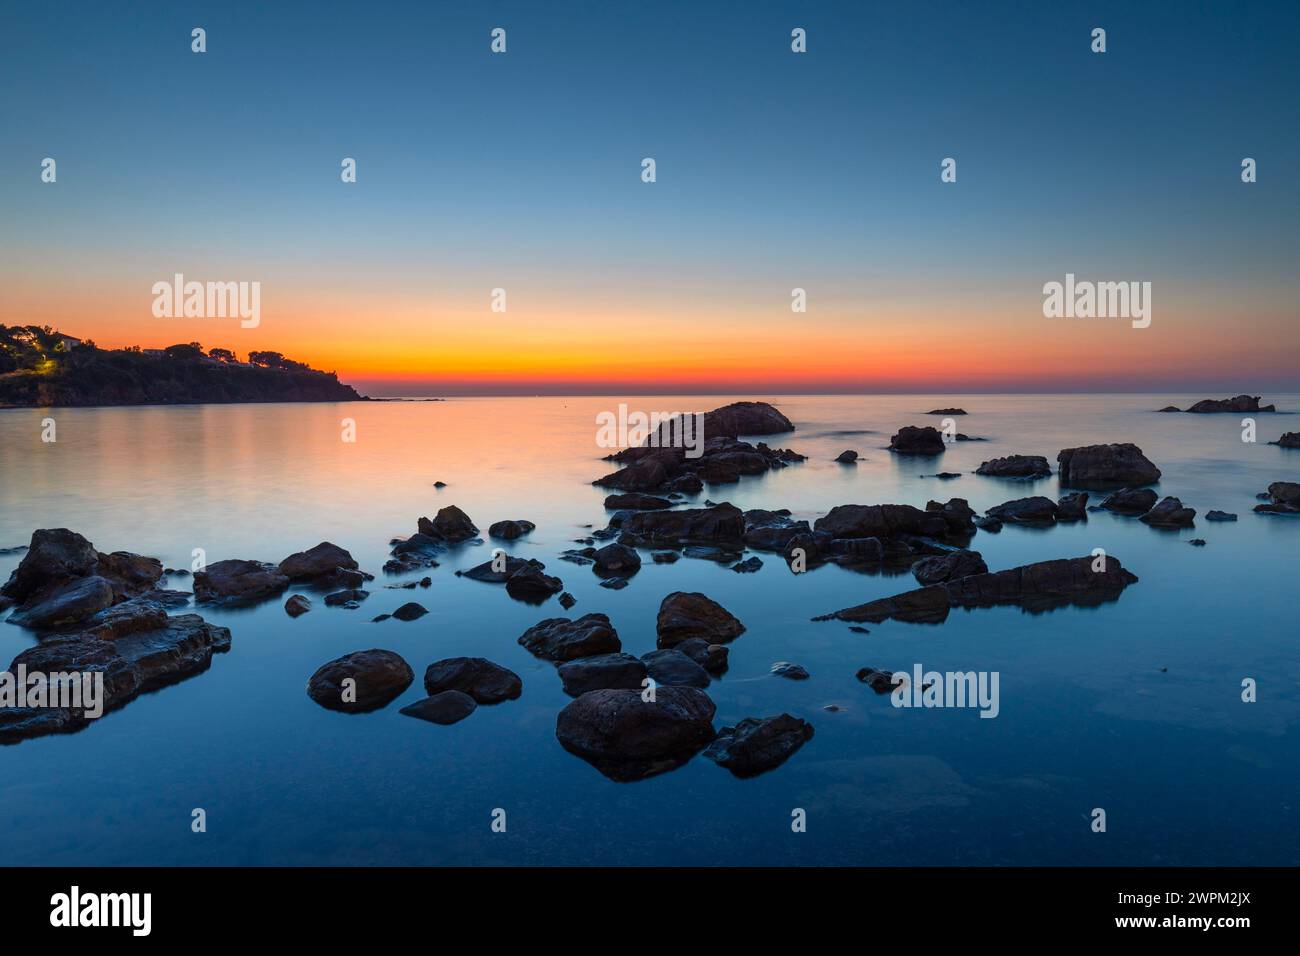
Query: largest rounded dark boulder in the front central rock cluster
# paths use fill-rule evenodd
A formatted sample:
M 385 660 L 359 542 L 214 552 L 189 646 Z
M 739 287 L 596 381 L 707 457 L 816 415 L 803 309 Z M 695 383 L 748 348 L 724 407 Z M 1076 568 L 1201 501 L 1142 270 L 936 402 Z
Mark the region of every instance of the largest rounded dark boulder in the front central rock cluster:
M 714 739 L 716 708 L 694 687 L 584 693 L 560 710 L 555 736 L 614 780 L 637 780 L 685 763 Z

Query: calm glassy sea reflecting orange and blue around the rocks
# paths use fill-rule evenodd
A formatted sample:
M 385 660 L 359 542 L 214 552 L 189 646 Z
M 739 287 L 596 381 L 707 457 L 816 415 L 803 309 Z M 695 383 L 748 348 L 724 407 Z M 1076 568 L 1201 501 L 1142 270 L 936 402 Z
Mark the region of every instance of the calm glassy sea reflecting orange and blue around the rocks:
M 1239 415 L 1160 415 L 1205 395 L 770 397 L 797 431 L 774 444 L 801 466 L 706 489 L 742 509 L 815 519 L 838 503 L 965 497 L 983 510 L 1060 492 L 965 473 L 987 458 L 1132 441 L 1165 473 L 1158 490 L 1197 509 L 1196 528 L 1158 532 L 1091 514 L 1050 531 L 1008 527 L 972 548 L 993 570 L 1104 548 L 1141 580 L 1114 604 L 1044 615 L 1014 607 L 957 611 L 941 626 L 889 622 L 867 635 L 816 614 L 914 587 L 910 576 L 837 567 L 792 575 L 777 555 L 742 575 L 706 561 L 646 561 L 623 591 L 556 559 L 603 527 L 610 471 L 595 416 L 632 408 L 696 411 L 719 397 L 473 398 L 437 403 L 243 405 L 0 411 L 0 548 L 32 529 L 68 527 L 100 550 L 188 567 L 278 562 L 328 540 L 376 572 L 360 610 L 287 618 L 282 598 L 251 610 L 203 610 L 233 633 L 212 669 L 68 736 L 0 748 L 0 847 L 6 864 L 1297 864 L 1300 862 L 1300 518 L 1251 511 L 1270 481 L 1300 480 L 1300 453 L 1264 442 L 1297 431 L 1294 415 L 1258 415 L 1243 444 Z M 1270 395 L 1300 410 L 1297 395 Z M 930 408 L 971 414 L 961 431 L 988 442 L 941 460 L 883 449 Z M 356 420 L 356 442 L 341 420 Z M 866 460 L 831 459 L 855 449 Z M 434 489 L 434 481 L 447 486 Z M 1096 501 L 1096 498 L 1093 499 Z M 546 562 L 577 598 L 533 607 L 503 588 L 454 575 L 486 561 L 468 546 L 432 572 L 428 591 L 385 589 L 389 540 L 459 505 L 486 535 L 525 518 L 511 545 Z M 1209 509 L 1235 524 L 1206 523 Z M 1205 548 L 1188 545 L 1192 537 Z M 0 555 L 8 576 L 21 555 Z M 181 579 L 173 587 L 188 589 Z M 614 783 L 555 739 L 568 702 L 550 663 L 516 644 L 546 617 L 604 611 L 624 649 L 655 644 L 655 611 L 672 591 L 703 591 L 748 626 L 731 670 L 708 693 L 715 726 L 789 711 L 816 727 L 784 766 L 737 779 L 697 757 L 679 770 Z M 408 600 L 430 614 L 370 623 Z M 0 666 L 31 644 L 0 624 Z M 326 711 L 304 687 L 334 657 L 400 653 L 416 683 L 386 709 Z M 398 714 L 424 696 L 430 662 L 481 656 L 519 672 L 517 701 L 439 727 Z M 771 676 L 803 665 L 801 683 Z M 997 671 L 1001 713 L 907 710 L 854 679 L 859 667 Z M 1242 701 L 1242 680 L 1258 702 Z M 827 711 L 829 704 L 837 713 Z M 207 810 L 207 832 L 190 829 Z M 506 832 L 493 832 L 493 810 Z M 792 832 L 792 810 L 807 831 Z M 1092 810 L 1106 832 L 1092 832 Z

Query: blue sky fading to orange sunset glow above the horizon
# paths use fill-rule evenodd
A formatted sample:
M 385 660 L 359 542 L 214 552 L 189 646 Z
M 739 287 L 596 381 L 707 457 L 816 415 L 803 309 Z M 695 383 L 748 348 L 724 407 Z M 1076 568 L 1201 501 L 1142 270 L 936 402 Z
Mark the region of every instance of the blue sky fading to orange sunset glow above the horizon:
M 6 324 L 377 395 L 1300 389 L 1295 3 L 0 16 Z M 259 325 L 155 317 L 176 273 Z M 1044 317 L 1066 273 L 1150 325 Z

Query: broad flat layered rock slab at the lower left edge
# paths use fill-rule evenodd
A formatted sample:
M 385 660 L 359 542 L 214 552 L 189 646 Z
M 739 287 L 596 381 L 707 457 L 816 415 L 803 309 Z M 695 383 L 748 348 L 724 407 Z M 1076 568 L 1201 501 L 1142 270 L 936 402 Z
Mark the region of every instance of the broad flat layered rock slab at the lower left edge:
M 27 648 L 9 665 L 31 675 L 103 672 L 104 713 L 125 706 L 150 691 L 205 671 L 212 654 L 230 649 L 230 631 L 209 624 L 198 614 L 168 618 L 164 627 L 124 633 L 104 640 L 86 633 L 60 636 Z M 84 704 L 84 701 L 82 701 Z M 13 744 L 47 734 L 70 734 L 96 718 L 86 708 L 0 708 L 0 744 Z

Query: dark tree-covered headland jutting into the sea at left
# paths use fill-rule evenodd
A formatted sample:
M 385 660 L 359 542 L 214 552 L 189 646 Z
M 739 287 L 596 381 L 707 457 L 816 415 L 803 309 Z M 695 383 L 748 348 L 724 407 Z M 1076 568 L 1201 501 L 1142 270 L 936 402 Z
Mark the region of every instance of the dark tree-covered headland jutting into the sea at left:
M 48 325 L 0 325 L 0 408 L 365 401 L 337 373 L 274 351 L 108 350 Z

